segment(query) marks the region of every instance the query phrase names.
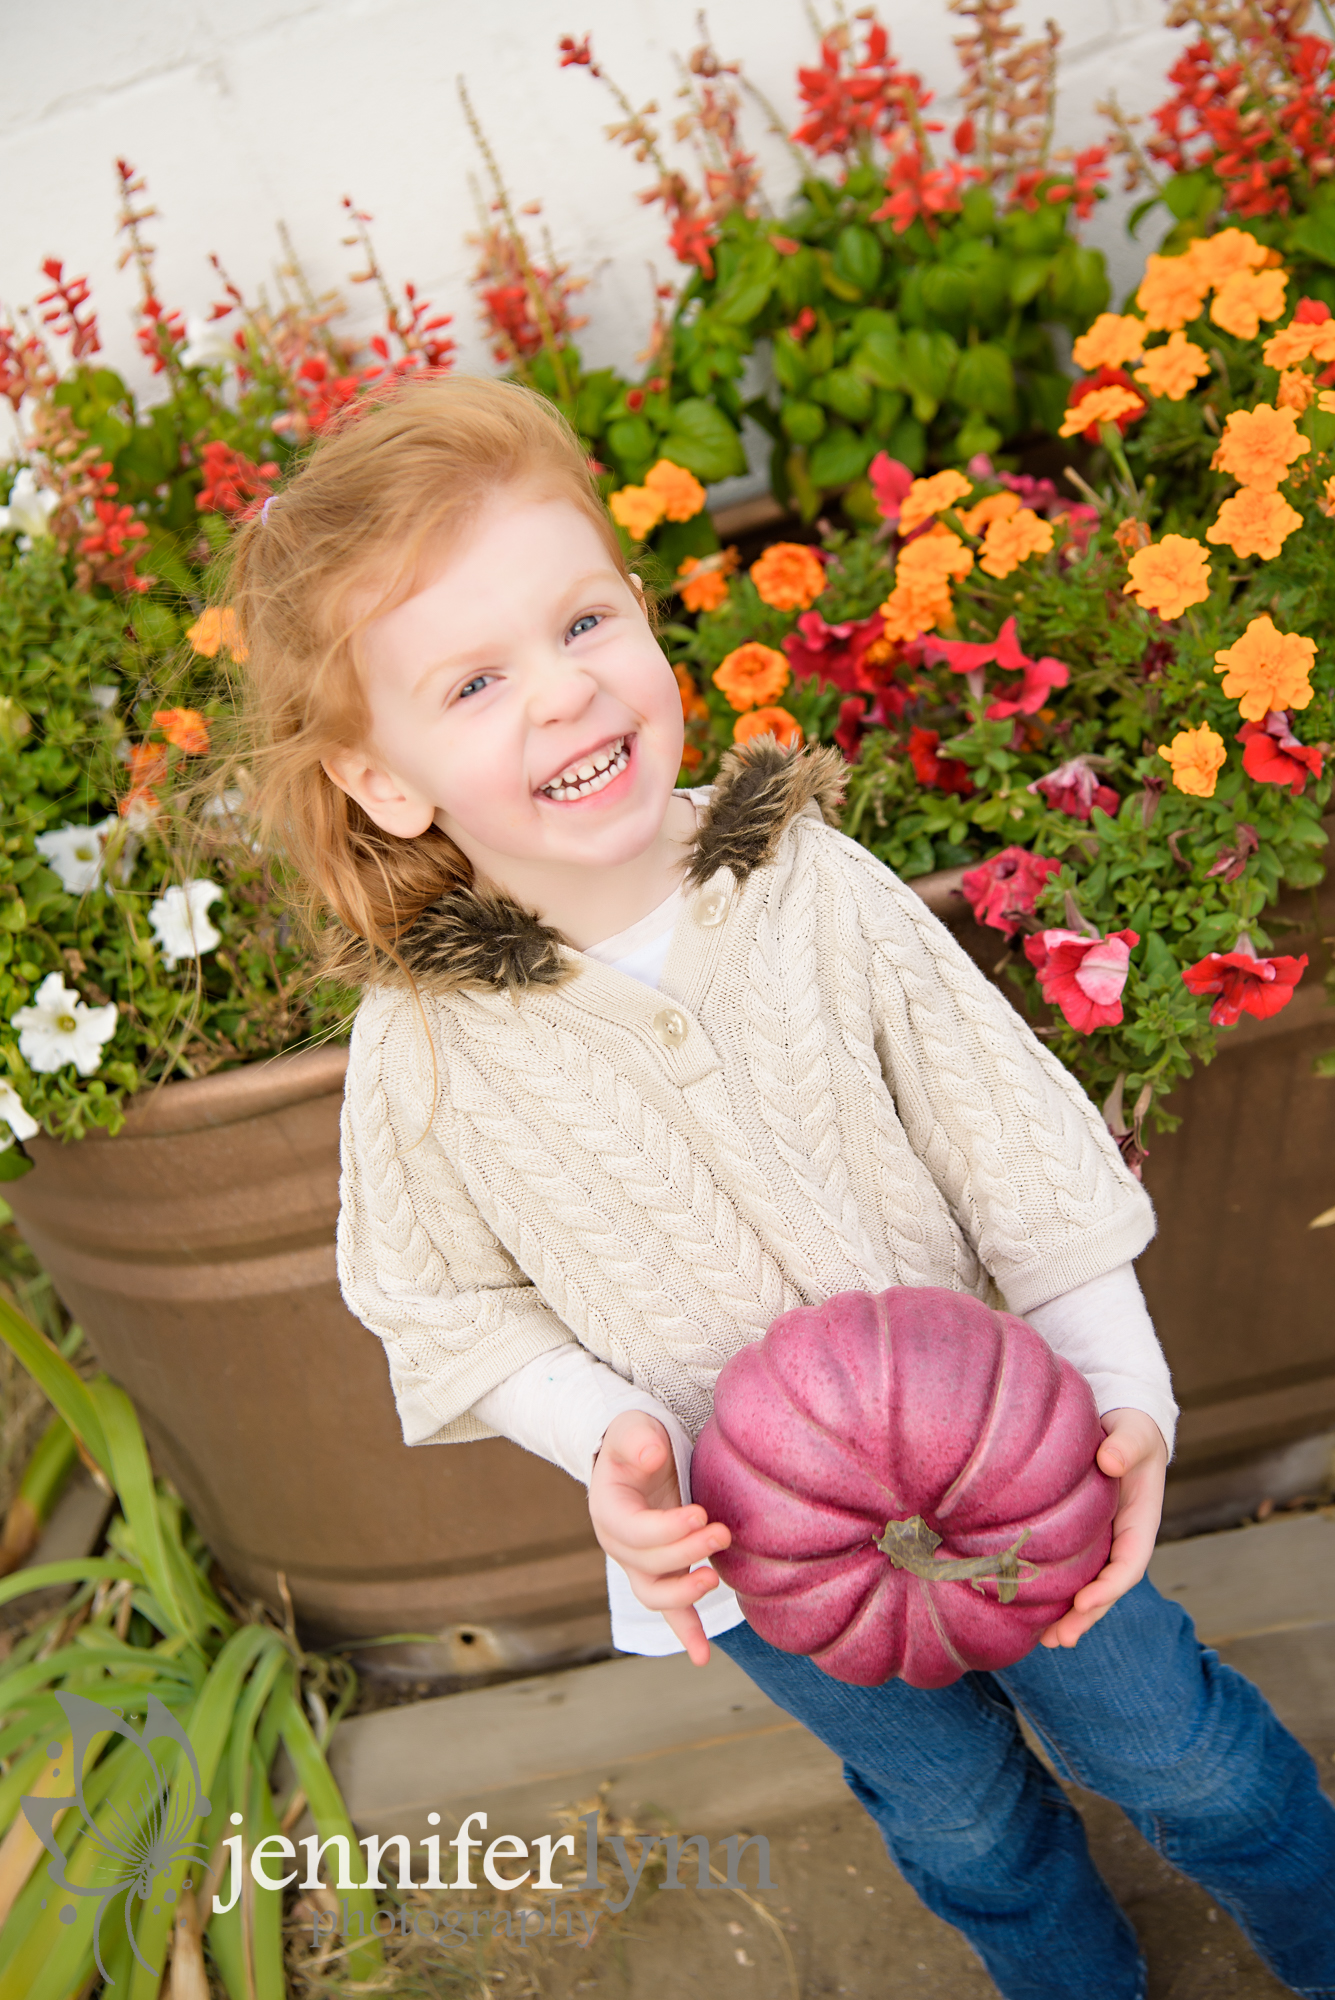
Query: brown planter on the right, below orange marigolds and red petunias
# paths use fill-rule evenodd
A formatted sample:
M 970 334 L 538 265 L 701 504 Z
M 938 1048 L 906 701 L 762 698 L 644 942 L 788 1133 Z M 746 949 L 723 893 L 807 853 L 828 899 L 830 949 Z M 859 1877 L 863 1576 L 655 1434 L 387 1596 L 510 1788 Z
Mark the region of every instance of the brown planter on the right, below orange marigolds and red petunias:
M 959 874 L 913 888 L 995 974 L 1005 944 L 971 920 Z M 1219 1038 L 1171 1098 L 1181 1126 L 1151 1134 L 1145 1162 L 1159 1234 L 1137 1270 L 1181 1404 L 1165 1506 L 1177 1532 L 1317 1486 L 1335 1432 L 1335 1228 L 1309 1228 L 1335 1204 L 1335 1080 L 1313 1076 L 1335 1048 L 1335 880 L 1285 896 L 1267 928 L 1277 950 L 1309 954 L 1303 984 L 1273 1020 L 1245 1016 Z

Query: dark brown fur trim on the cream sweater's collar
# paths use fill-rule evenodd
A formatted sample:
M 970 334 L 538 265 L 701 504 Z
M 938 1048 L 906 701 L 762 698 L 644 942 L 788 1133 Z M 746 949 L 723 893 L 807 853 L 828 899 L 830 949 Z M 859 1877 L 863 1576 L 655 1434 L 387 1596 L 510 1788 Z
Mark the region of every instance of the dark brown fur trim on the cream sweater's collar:
M 719 766 L 705 808 L 685 886 L 697 888 L 719 868 L 741 884 L 773 860 L 787 826 L 815 802 L 827 824 L 839 824 L 843 758 L 813 744 L 781 750 L 773 736 L 755 736 L 729 750 Z M 464 990 L 522 992 L 526 986 L 560 986 L 570 978 L 570 946 L 560 930 L 544 924 L 504 894 L 460 888 L 428 904 L 400 938 L 402 966 L 382 962 L 356 968 L 360 980 L 390 984 L 408 972 L 420 992 Z M 346 968 L 346 976 L 354 968 Z

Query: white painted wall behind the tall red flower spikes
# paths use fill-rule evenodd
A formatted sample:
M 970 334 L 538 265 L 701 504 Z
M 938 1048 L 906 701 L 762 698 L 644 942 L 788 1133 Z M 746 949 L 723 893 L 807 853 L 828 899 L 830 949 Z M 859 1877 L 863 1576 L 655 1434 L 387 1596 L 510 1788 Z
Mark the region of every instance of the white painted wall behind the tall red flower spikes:
M 586 294 L 592 362 L 634 364 L 650 320 L 650 272 L 675 266 L 658 210 L 636 202 L 650 170 L 604 138 L 614 106 L 586 70 L 558 70 L 560 34 L 594 32 L 606 68 L 640 104 L 673 110 L 673 52 L 695 40 L 695 0 L 48 0 L 0 6 L 0 300 L 40 290 L 38 264 L 62 256 L 88 272 L 108 360 L 136 386 L 130 334 L 136 284 L 116 270 L 112 162 L 148 174 L 160 220 L 160 296 L 202 312 L 216 296 L 216 250 L 252 292 L 278 258 L 286 220 L 316 288 L 344 284 L 356 252 L 340 246 L 340 196 L 374 218 L 392 280 L 416 284 L 456 314 L 468 368 L 490 368 L 468 290 L 464 238 L 474 208 L 476 152 L 456 96 L 474 104 L 504 162 L 514 198 L 542 198 L 558 252 L 594 276 Z M 711 0 L 723 56 L 795 122 L 793 72 L 811 58 L 803 0 Z M 825 8 L 821 6 L 821 14 Z M 1055 14 L 1065 34 L 1059 140 L 1101 136 L 1093 104 L 1117 90 L 1131 110 L 1163 96 L 1181 36 L 1163 26 L 1165 0 L 1023 0 L 1031 32 Z M 885 0 L 897 52 L 939 90 L 949 116 L 955 80 L 945 0 Z M 759 116 L 751 134 L 791 182 L 783 146 Z M 1147 242 L 1123 236 L 1117 194 L 1087 224 L 1113 264 L 1117 294 L 1133 282 Z M 372 316 L 366 288 L 352 318 Z

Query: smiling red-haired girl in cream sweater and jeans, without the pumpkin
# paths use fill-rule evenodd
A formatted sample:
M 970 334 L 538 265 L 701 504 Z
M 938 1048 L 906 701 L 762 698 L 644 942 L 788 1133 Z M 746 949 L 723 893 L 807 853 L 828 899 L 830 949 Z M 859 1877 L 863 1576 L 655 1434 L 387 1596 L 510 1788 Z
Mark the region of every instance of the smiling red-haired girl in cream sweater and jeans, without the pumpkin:
M 887 868 L 841 760 L 733 752 L 677 792 L 681 704 L 586 458 L 522 388 L 418 384 L 242 534 L 272 836 L 364 986 L 340 1280 L 408 1444 L 496 1434 L 590 1490 L 624 1652 L 709 1640 L 845 1760 L 1009 2000 L 1145 1968 L 1025 1748 L 1117 1800 L 1289 1986 L 1335 2000 L 1335 1808 L 1145 1578 L 1177 1414 L 1153 1232 L 1073 1078 Z M 743 1622 L 689 1504 L 723 1362 L 891 1284 L 989 1296 L 1087 1376 L 1113 1552 L 1017 1666 L 851 1688 Z

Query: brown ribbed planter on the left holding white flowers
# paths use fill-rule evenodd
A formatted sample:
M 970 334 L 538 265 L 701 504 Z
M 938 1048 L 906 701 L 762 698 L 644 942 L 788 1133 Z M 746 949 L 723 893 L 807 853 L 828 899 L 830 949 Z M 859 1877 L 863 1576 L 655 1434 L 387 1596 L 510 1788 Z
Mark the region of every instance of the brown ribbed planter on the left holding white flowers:
M 584 1492 L 502 1440 L 406 1450 L 334 1272 L 342 1048 L 170 1084 L 122 1132 L 30 1144 L 22 1234 L 134 1398 L 228 1580 L 308 1638 L 436 1634 L 382 1666 L 606 1652 Z

